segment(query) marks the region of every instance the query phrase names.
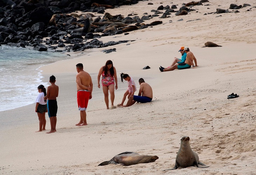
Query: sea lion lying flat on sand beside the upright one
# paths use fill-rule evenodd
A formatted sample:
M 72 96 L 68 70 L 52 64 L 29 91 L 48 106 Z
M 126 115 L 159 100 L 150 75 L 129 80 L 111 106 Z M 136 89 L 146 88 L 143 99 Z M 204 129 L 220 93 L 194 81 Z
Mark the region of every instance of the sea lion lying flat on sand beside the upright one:
M 110 161 L 105 161 L 100 163 L 98 166 L 104 166 L 108 164 L 118 164 L 121 163 L 123 166 L 130 166 L 130 165 L 136 165 L 139 163 L 150 163 L 154 162 L 158 159 L 156 155 L 140 155 L 138 153 L 134 152 L 123 152 L 120 154 L 117 154 L 112 158 Z

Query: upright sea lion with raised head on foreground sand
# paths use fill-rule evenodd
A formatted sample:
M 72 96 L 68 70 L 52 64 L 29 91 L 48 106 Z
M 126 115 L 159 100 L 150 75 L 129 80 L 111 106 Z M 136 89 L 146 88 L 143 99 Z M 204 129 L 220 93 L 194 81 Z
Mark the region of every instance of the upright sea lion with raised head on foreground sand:
M 173 169 L 177 169 L 178 167 L 192 167 L 196 166 L 198 168 L 207 168 L 209 166 L 204 165 L 202 162 L 199 162 L 199 157 L 196 152 L 194 152 L 189 145 L 190 138 L 187 136 L 183 136 L 181 138 L 181 146 L 176 156 L 175 166 Z M 204 166 L 198 166 L 198 164 Z M 166 169 L 172 170 L 172 169 Z M 165 171 L 165 170 L 163 170 Z

